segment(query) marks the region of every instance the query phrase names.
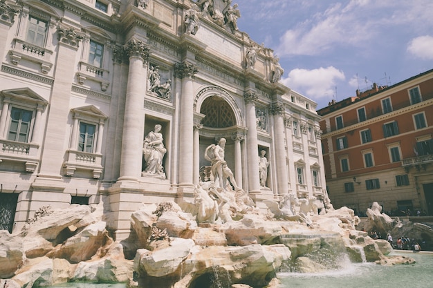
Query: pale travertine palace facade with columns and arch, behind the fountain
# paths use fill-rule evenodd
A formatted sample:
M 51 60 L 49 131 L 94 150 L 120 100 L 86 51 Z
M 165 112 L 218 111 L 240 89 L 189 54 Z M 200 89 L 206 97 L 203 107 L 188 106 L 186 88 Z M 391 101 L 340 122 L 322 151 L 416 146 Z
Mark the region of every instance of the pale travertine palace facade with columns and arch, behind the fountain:
M 236 5 L 209 4 L 0 1 L 1 229 L 48 204 L 103 201 L 126 238 L 142 202 L 193 200 L 222 137 L 258 206 L 324 197 L 315 102 L 279 83 L 277 57 L 239 30 Z

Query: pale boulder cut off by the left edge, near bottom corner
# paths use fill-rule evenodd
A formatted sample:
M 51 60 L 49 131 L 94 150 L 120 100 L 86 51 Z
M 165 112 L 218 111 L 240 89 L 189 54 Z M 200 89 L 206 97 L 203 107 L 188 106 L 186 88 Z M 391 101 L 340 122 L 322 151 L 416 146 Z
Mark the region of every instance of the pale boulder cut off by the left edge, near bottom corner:
M 11 236 L 6 230 L 0 230 L 0 278 L 14 276 L 18 267 L 23 265 L 26 259 L 23 248 L 21 238 Z

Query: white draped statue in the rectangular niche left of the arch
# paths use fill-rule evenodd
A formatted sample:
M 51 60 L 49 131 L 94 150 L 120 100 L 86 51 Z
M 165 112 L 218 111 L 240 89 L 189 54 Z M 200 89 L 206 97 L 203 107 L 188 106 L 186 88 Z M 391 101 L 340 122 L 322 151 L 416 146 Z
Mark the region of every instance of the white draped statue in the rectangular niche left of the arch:
M 145 158 L 145 171 L 142 175 L 159 175 L 165 177 L 163 158 L 167 149 L 163 144 L 163 135 L 160 133 L 163 126 L 155 125 L 154 131 L 149 132 L 143 141 L 143 156 Z

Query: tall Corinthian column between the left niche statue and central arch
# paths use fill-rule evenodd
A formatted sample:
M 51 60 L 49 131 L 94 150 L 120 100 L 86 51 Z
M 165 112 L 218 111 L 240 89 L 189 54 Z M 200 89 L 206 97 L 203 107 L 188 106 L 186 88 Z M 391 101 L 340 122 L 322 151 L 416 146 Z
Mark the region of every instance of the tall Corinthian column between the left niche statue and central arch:
M 182 79 L 181 119 L 179 133 L 179 187 L 193 187 L 194 146 L 191 144 L 194 132 L 194 90 L 192 77 L 199 72 L 187 61 L 177 64 L 176 76 Z

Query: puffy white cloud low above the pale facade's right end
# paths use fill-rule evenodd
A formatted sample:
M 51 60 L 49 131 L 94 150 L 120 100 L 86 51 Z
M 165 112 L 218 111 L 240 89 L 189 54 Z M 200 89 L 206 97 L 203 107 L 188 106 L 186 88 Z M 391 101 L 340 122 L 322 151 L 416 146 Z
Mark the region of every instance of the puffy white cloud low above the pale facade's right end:
M 320 99 L 335 95 L 335 84 L 344 79 L 344 73 L 341 70 L 329 66 L 313 70 L 293 69 L 288 73 L 288 78 L 282 79 L 282 82 L 306 97 Z

